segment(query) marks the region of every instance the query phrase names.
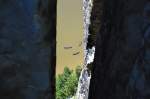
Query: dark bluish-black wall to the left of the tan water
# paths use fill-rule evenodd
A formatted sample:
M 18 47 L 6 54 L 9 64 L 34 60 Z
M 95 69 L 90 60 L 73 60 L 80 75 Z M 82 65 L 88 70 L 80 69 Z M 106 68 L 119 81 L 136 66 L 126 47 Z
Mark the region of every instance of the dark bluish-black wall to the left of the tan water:
M 56 0 L 0 1 L 0 99 L 54 99 Z

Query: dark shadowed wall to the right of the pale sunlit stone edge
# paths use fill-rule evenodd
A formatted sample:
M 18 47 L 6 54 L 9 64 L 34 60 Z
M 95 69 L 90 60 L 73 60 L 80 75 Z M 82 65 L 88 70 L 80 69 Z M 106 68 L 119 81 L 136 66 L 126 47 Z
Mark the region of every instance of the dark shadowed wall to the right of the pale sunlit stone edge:
M 95 0 L 102 10 L 89 99 L 150 98 L 150 1 Z M 100 13 L 100 12 L 99 12 Z

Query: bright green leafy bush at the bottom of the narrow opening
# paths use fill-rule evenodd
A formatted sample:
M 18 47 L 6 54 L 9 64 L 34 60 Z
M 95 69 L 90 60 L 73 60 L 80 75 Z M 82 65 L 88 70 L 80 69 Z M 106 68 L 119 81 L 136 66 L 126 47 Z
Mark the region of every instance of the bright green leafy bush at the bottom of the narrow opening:
M 77 66 L 75 71 L 68 67 L 64 68 L 64 72 L 56 78 L 56 99 L 67 99 L 74 96 L 80 72 L 80 66 Z

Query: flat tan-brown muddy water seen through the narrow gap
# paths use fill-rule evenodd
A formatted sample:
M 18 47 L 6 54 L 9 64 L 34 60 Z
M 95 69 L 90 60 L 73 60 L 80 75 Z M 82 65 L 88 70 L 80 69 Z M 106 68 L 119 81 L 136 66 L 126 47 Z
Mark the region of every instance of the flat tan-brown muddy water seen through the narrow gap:
M 83 41 L 83 12 L 82 0 L 58 0 L 57 6 L 56 72 L 59 74 L 65 66 L 74 69 L 83 64 L 83 45 L 79 46 Z

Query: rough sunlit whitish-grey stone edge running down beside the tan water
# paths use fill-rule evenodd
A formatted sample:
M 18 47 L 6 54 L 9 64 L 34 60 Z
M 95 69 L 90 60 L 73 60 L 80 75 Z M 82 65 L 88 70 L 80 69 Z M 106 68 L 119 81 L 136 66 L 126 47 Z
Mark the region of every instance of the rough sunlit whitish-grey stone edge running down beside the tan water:
M 95 53 L 94 34 L 89 31 L 91 25 L 92 0 L 83 0 L 83 19 L 84 19 L 84 64 L 81 71 L 78 88 L 76 93 L 77 99 L 88 99 L 91 71 L 89 66 L 92 65 Z M 94 39 L 95 40 L 95 39 Z M 90 66 L 91 67 L 91 66 Z

